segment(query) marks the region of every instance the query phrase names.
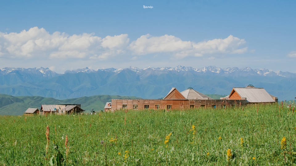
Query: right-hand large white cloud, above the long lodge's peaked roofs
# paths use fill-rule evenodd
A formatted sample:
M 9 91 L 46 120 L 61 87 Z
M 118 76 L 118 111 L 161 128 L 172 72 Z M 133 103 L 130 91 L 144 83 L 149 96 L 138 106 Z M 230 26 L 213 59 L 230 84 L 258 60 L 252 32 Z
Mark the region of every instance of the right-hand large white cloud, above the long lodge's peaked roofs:
M 187 56 L 201 57 L 207 54 L 241 54 L 248 50 L 248 47 L 242 47 L 245 44 L 244 39 L 239 39 L 229 35 L 225 39 L 213 39 L 203 42 L 182 41 L 171 35 L 160 37 L 151 37 L 146 34 L 131 42 L 129 49 L 134 54 L 149 53 L 173 53 L 177 58 Z

